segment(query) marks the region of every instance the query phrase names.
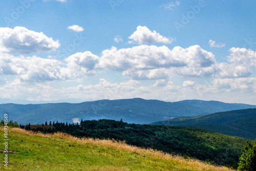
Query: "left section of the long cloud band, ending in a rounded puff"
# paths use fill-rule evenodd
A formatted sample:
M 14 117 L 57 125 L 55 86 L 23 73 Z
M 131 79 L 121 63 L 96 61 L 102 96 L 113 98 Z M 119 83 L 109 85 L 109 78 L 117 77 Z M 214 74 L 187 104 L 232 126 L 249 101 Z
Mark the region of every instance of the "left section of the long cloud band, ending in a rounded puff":
M 71 80 L 96 73 L 99 57 L 91 52 L 76 53 L 62 63 L 57 59 L 0 54 L 0 74 L 14 75 L 21 81 Z M 66 66 L 65 66 L 66 64 Z M 1 79 L 3 82 L 3 79 Z

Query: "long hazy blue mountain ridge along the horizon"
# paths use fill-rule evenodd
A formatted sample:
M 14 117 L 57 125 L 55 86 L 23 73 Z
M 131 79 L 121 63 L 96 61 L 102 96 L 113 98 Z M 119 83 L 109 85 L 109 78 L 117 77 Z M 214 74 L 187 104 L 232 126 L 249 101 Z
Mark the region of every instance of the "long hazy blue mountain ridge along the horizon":
M 201 102 L 200 102 L 201 101 Z M 204 105 L 198 105 L 204 103 Z M 176 117 L 193 117 L 209 113 L 256 108 L 256 105 L 189 100 L 164 102 L 141 98 L 97 100 L 82 103 L 0 104 L 0 113 L 20 124 L 38 124 L 45 121 L 73 122 L 83 120 L 122 119 L 128 123 L 148 124 Z M 226 107 L 225 107 L 226 106 Z

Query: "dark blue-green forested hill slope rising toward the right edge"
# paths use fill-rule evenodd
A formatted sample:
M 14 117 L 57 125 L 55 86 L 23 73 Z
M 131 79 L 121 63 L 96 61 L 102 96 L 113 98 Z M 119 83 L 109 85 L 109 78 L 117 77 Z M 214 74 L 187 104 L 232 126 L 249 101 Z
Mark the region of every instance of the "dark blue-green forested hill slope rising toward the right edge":
M 198 127 L 226 135 L 254 140 L 256 138 L 256 109 L 244 109 L 214 114 L 179 117 L 152 125 L 182 125 Z

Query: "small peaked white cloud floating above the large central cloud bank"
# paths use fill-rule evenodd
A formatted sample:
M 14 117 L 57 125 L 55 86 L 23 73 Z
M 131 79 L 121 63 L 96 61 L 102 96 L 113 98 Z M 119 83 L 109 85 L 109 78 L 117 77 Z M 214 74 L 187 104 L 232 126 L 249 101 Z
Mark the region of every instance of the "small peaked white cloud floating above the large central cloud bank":
M 172 38 L 166 38 L 155 30 L 152 32 L 146 26 L 138 26 L 137 30 L 129 38 L 132 39 L 129 41 L 129 44 L 138 42 L 139 45 L 152 44 L 155 42 L 170 44 L 173 41 Z

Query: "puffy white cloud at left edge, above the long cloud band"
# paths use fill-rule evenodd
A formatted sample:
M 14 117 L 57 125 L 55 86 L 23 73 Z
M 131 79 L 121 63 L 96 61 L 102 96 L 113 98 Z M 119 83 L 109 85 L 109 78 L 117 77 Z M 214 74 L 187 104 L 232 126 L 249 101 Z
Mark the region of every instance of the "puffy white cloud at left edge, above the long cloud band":
M 25 27 L 0 28 L 0 52 L 29 54 L 50 52 L 59 48 L 58 40 L 54 41 L 44 33 L 35 32 Z

